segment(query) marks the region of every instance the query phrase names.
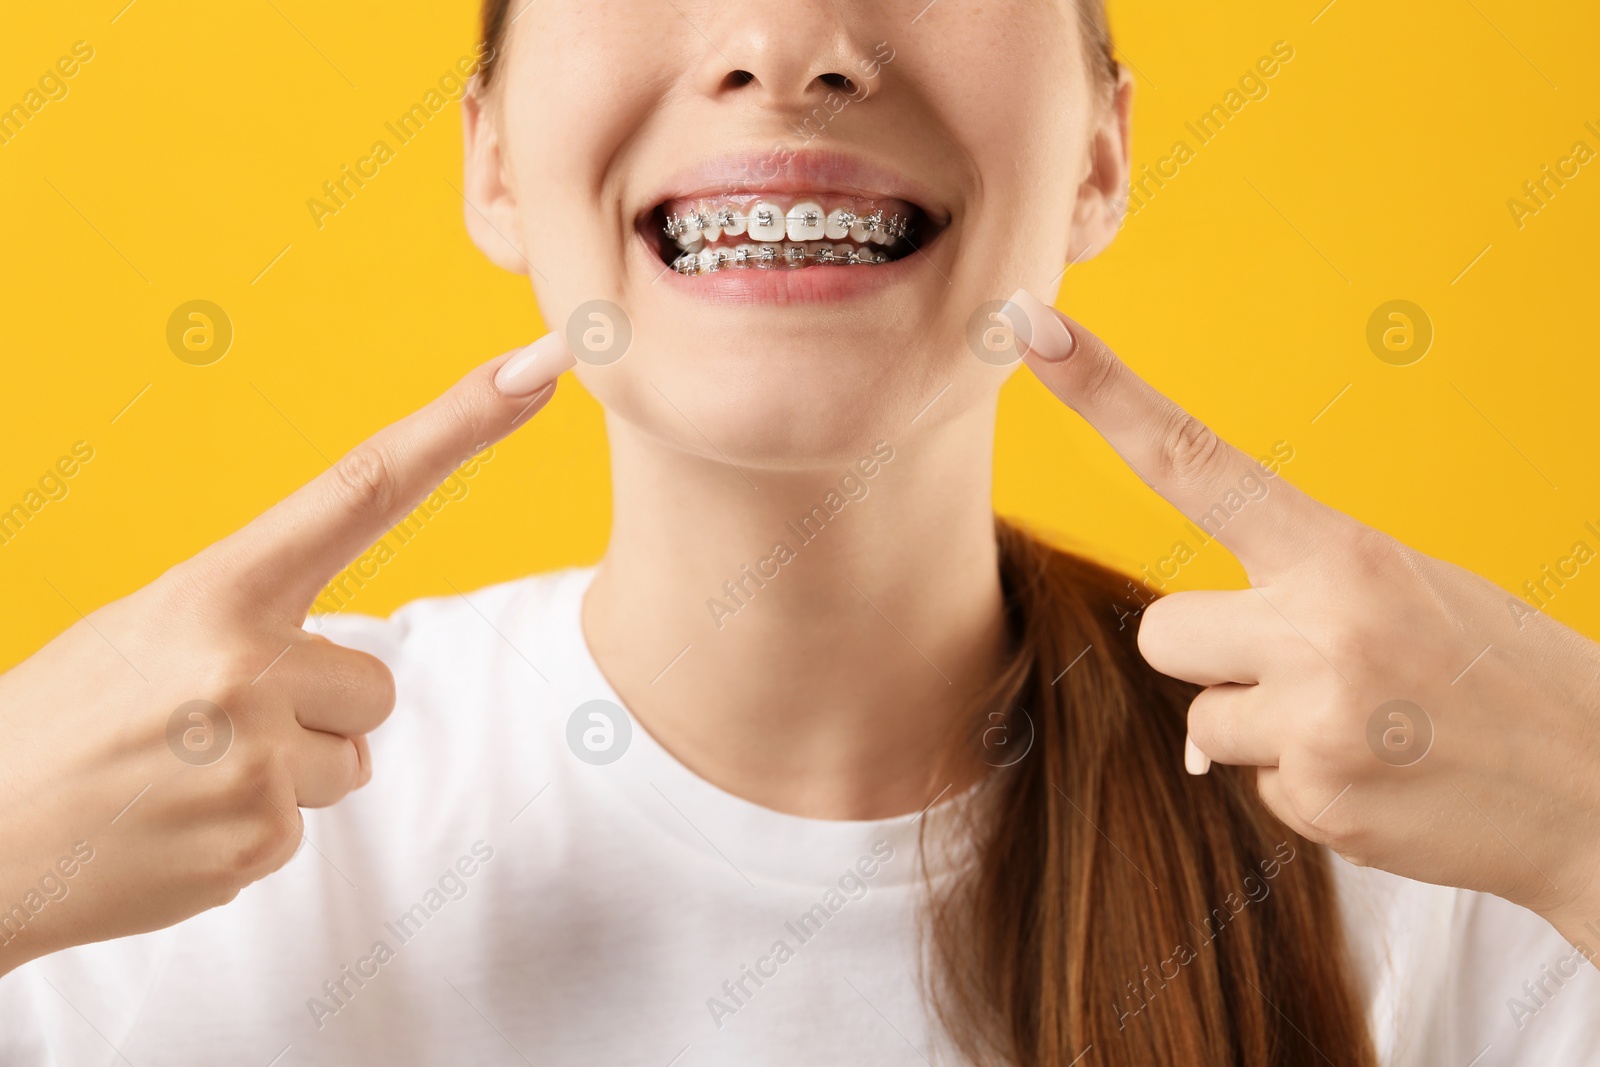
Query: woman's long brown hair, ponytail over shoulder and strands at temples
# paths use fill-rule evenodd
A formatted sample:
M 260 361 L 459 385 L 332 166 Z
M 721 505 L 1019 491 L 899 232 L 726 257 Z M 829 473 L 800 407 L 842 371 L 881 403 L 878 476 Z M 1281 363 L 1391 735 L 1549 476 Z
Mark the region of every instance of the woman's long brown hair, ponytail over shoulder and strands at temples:
M 1074 2 L 1107 90 L 1104 2 Z M 483 2 L 482 85 L 509 6 Z M 990 760 L 1008 766 L 962 808 L 974 862 L 930 881 L 926 977 L 957 1049 L 1013 1067 L 1373 1067 L 1326 857 L 1250 773 L 1182 771 L 1198 689 L 1139 656 L 1149 590 L 1003 520 L 995 536 L 1014 651 L 984 707 L 1026 755 Z

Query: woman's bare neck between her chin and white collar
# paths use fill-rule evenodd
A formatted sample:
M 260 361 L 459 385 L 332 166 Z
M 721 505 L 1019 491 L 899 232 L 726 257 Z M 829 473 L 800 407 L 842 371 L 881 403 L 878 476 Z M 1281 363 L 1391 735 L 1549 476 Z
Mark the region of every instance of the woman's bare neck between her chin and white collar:
M 611 419 L 611 544 L 584 632 L 640 725 L 792 814 L 890 817 L 976 781 L 963 742 L 1006 653 L 994 416 L 859 466 L 742 474 Z

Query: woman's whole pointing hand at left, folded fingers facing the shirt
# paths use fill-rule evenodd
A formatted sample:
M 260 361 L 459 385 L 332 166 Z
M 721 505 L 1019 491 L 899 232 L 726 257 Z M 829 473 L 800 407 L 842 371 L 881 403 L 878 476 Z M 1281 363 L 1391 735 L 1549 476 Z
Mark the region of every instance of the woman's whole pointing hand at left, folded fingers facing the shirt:
M 0 675 L 0 974 L 232 901 L 294 854 L 299 808 L 366 784 L 394 677 L 307 633 L 306 614 L 571 365 L 547 334 L 477 368 Z M 190 701 L 224 713 L 178 713 Z

